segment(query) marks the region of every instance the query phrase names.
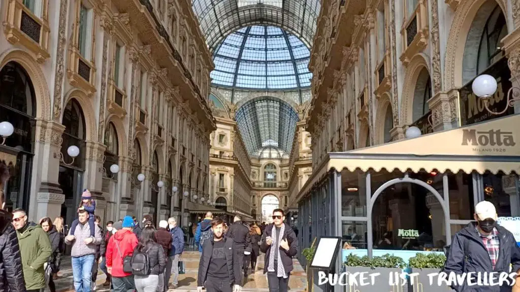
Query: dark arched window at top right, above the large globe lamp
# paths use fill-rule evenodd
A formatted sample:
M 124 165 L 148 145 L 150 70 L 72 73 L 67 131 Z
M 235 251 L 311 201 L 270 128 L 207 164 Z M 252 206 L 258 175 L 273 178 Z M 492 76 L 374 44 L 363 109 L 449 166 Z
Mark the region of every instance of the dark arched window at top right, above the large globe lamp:
M 508 26 L 500 6 L 496 5 L 486 21 L 478 45 L 477 72 L 482 73 L 503 56 L 500 41 L 508 34 Z

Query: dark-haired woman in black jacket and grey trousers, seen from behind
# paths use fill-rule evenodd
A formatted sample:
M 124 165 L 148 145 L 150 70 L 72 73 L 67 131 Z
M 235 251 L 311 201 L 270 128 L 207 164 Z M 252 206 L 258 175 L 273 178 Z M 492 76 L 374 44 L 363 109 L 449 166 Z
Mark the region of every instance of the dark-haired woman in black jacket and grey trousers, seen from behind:
M 147 275 L 134 275 L 135 288 L 138 292 L 155 292 L 166 267 L 166 255 L 163 247 L 157 243 L 153 227 L 145 227 L 141 231 L 139 244 L 134 249 L 133 262 L 139 253 L 146 254 L 149 271 Z

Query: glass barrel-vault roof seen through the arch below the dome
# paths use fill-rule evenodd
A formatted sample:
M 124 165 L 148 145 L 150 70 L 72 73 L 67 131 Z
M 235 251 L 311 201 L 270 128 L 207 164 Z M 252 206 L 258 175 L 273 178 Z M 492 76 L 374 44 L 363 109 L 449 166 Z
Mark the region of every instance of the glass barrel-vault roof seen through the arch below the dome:
M 237 111 L 236 121 L 250 156 L 259 157 L 266 150 L 269 153 L 276 150 L 273 153 L 285 158 L 291 151 L 299 119 L 287 102 L 261 97 L 244 103 Z

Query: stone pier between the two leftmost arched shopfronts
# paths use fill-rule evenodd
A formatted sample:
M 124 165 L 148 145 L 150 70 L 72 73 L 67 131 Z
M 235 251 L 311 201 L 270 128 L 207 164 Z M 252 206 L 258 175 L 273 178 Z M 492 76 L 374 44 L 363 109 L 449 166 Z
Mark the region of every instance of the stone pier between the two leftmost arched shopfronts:
M 65 195 L 58 183 L 60 167 L 61 134 L 65 127 L 56 122 L 36 121 L 36 144 L 34 147 L 29 202 L 29 220 L 60 216 Z M 37 190 L 37 192 L 36 192 Z M 36 200 L 33 200 L 36 198 Z

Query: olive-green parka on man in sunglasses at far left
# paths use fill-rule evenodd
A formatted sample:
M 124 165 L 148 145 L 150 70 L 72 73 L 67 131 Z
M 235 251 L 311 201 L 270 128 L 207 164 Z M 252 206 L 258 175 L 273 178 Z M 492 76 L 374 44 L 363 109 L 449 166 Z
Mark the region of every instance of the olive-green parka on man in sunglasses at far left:
M 22 255 L 23 277 L 25 289 L 35 290 L 45 287 L 45 270 L 43 268 L 53 253 L 49 237 L 40 225 L 27 223 L 23 233 L 16 231 L 20 253 Z

